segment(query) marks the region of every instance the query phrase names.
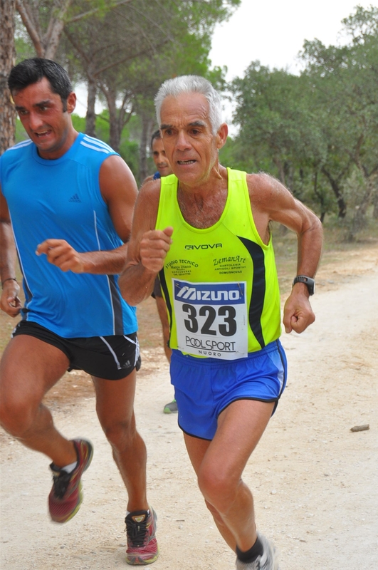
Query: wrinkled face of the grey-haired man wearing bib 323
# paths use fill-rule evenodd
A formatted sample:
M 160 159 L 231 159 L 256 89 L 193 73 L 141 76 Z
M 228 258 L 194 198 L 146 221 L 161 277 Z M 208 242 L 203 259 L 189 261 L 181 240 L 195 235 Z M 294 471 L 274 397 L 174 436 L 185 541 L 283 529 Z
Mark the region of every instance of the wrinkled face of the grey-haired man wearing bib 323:
M 227 137 L 226 125 L 213 135 L 209 103 L 201 93 L 182 93 L 164 99 L 160 111 L 164 149 L 180 182 L 198 186 L 218 168 L 218 150 Z

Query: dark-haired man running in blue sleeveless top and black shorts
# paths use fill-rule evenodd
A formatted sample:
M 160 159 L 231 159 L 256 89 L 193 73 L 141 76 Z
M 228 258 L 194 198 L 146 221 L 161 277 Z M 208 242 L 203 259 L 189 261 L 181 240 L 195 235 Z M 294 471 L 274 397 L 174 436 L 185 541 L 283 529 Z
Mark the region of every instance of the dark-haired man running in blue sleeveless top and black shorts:
M 147 502 L 145 443 L 133 411 L 137 320 L 118 286 L 135 179 L 108 145 L 73 128 L 75 93 L 58 63 L 19 63 L 9 88 L 30 140 L 0 157 L 0 304 L 10 316 L 21 314 L 1 360 L 1 425 L 51 458 L 49 512 L 53 521 L 67 522 L 80 507 L 80 479 L 93 446 L 65 439 L 42 399 L 65 371 L 89 373 L 98 418 L 128 494 L 126 561 L 150 564 L 158 548 L 156 517 Z

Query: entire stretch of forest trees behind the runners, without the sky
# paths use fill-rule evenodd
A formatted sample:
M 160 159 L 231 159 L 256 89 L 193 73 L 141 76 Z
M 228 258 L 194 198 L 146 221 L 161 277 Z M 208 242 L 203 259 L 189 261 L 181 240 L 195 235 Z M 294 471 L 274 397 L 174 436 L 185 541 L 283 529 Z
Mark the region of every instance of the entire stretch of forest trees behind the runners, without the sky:
M 0 154 L 26 138 L 6 88 L 11 66 L 51 58 L 87 86 L 87 113 L 73 115 L 75 128 L 108 142 L 141 183 L 153 171 L 154 95 L 165 79 L 195 73 L 233 102 L 236 134 L 222 163 L 275 175 L 340 241 L 376 234 L 378 8 L 356 6 L 342 20 L 342 46 L 305 41 L 298 74 L 251 61 L 227 83 L 226 68 L 211 66 L 211 36 L 240 3 L 0 0 Z

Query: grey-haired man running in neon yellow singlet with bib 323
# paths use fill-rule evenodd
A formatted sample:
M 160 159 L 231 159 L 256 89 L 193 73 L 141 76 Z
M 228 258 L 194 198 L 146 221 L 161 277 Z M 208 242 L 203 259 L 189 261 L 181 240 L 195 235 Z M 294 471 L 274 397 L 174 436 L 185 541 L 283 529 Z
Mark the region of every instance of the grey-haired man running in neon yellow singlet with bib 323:
M 228 128 L 209 81 L 165 81 L 155 104 L 174 175 L 140 190 L 121 291 L 136 305 L 159 274 L 179 426 L 206 506 L 236 552 L 236 570 L 278 570 L 242 480 L 285 387 L 269 224 L 298 235 L 298 275 L 283 314 L 288 333 L 315 320 L 309 295 L 322 227 L 278 180 L 219 163 Z

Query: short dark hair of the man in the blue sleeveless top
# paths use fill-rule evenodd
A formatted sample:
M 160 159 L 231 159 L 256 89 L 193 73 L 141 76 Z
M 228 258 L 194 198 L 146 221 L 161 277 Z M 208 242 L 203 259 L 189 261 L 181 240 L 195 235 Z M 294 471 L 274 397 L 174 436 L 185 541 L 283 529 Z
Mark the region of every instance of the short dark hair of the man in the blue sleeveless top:
M 72 92 L 72 85 L 67 71 L 51 59 L 24 59 L 11 69 L 8 86 L 11 93 L 25 89 L 33 83 L 38 83 L 43 77 L 48 79 L 51 90 L 61 96 L 63 112 L 67 110 L 67 98 Z

